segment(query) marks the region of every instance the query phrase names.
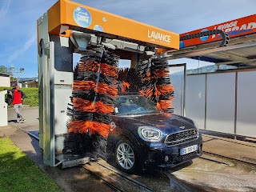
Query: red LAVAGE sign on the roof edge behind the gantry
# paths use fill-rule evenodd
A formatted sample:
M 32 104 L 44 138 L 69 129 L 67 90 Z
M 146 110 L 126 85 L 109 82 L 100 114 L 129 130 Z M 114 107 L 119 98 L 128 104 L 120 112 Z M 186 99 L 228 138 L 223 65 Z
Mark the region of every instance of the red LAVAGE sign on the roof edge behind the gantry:
M 180 37 L 186 36 L 186 34 L 197 34 L 207 30 L 223 30 L 229 34 L 230 38 L 239 37 L 245 34 L 254 34 L 256 33 L 256 14 L 247 16 L 245 18 L 238 18 L 230 22 L 222 22 L 218 25 L 208 26 L 200 30 L 193 30 L 185 34 L 180 34 Z M 219 40 L 222 40 L 222 36 L 220 34 L 188 39 L 180 42 L 180 48 L 200 45 L 207 42 L 215 42 Z

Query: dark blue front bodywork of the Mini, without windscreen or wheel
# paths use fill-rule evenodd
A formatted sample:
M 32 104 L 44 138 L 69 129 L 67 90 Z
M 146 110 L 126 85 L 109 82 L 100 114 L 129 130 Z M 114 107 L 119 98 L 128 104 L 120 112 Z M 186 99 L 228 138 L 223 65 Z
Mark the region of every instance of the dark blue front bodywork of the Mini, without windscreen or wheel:
M 178 166 L 202 155 L 202 134 L 189 118 L 154 111 L 115 114 L 112 120 L 114 127 L 108 138 L 108 154 L 117 153 L 120 140 L 129 141 L 134 148 L 137 166 L 142 168 Z M 156 140 L 143 138 L 141 130 L 148 127 L 160 130 L 161 137 Z M 194 151 L 184 154 L 183 150 L 192 150 L 191 146 L 196 147 Z

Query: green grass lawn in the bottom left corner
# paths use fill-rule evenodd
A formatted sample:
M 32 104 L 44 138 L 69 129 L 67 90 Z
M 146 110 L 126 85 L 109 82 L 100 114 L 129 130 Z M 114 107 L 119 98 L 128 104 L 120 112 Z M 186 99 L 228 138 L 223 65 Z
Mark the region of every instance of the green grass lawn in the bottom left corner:
M 0 191 L 62 191 L 9 138 L 0 138 Z

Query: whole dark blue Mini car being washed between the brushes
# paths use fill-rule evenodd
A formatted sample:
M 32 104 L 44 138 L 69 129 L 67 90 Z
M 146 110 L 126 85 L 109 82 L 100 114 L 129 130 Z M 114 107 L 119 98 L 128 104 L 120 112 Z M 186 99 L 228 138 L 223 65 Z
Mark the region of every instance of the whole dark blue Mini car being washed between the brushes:
M 202 155 L 202 134 L 190 118 L 158 110 L 138 94 L 119 95 L 107 152 L 118 168 L 173 167 Z

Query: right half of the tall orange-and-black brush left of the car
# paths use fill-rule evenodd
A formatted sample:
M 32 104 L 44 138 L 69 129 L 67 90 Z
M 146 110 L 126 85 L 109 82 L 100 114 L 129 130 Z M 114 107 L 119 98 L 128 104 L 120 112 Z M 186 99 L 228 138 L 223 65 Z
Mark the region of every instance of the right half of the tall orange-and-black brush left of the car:
M 95 87 L 94 113 L 92 121 L 95 123 L 90 130 L 92 154 L 96 157 L 106 157 L 106 138 L 110 132 L 110 114 L 114 112 L 114 103 L 118 96 L 119 57 L 107 50 L 102 52 L 101 65 L 98 71 L 98 81 Z

